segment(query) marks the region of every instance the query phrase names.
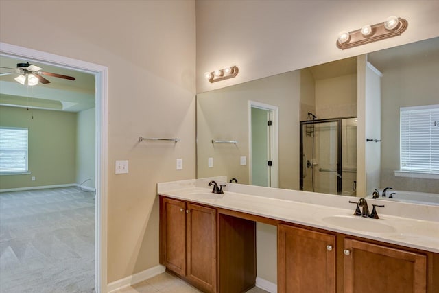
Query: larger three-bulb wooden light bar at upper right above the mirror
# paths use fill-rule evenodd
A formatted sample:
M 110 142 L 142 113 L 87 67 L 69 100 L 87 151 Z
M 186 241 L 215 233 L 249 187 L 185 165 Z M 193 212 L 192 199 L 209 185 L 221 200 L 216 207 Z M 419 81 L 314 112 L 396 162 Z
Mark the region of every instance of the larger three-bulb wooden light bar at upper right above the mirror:
M 408 23 L 405 19 L 390 16 L 383 23 L 364 25 L 361 29 L 352 32 L 340 32 L 337 38 L 337 47 L 343 50 L 399 36 L 407 29 L 407 25 Z

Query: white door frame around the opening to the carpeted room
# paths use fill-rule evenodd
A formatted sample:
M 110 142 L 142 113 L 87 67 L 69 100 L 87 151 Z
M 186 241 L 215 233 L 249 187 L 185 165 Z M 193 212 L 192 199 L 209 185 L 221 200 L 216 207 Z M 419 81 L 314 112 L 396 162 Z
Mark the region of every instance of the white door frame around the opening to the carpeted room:
M 107 288 L 108 67 L 1 42 L 0 55 L 26 58 L 95 75 L 95 285 L 97 293 L 104 293 Z

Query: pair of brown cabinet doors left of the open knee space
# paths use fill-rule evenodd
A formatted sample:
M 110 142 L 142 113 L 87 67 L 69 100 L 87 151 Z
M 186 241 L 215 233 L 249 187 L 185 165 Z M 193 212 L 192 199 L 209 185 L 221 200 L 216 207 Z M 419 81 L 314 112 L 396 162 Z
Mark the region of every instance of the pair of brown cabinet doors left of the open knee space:
M 217 292 L 216 209 L 160 197 L 160 263 L 203 292 Z

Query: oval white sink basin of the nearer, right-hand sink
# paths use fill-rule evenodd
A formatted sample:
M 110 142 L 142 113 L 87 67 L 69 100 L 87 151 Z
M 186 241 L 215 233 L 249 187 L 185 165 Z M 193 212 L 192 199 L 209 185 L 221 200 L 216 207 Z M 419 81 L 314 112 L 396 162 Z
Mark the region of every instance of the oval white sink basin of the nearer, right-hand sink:
M 372 232 L 372 233 L 390 233 L 396 229 L 388 224 L 383 224 L 379 219 L 370 219 L 360 216 L 348 215 L 332 215 L 322 219 L 323 222 L 333 226 L 353 229 L 356 231 Z

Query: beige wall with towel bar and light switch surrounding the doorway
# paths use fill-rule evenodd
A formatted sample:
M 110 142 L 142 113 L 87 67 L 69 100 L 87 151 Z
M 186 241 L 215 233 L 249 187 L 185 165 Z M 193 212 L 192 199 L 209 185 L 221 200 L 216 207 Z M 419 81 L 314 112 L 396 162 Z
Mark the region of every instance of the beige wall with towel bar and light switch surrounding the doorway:
M 195 176 L 195 1 L 0 1 L 0 37 L 108 67 L 108 282 L 158 265 L 156 183 Z

